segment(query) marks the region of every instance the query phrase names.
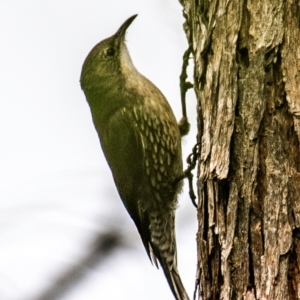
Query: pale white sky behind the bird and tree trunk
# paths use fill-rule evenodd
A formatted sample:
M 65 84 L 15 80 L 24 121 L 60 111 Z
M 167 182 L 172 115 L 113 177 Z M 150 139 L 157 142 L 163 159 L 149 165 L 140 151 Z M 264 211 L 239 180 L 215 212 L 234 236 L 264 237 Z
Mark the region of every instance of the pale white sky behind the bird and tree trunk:
M 137 69 L 181 117 L 179 74 L 187 48 L 177 0 L 1 0 L 0 299 L 33 300 L 115 230 L 122 247 L 86 266 L 64 300 L 173 299 L 116 192 L 79 85 L 91 48 L 131 15 L 127 45 Z M 188 93 L 196 142 L 196 101 Z M 177 210 L 179 271 L 192 296 L 196 211 L 187 191 Z

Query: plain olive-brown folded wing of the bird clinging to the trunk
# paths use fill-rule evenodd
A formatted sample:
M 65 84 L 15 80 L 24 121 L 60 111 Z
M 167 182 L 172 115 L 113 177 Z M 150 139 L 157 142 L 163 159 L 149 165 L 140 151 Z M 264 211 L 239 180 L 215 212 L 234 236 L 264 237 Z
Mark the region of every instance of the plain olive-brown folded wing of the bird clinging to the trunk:
M 112 171 L 119 195 L 136 224 L 151 259 L 149 220 L 144 214 L 141 198 L 148 191 L 145 185 L 145 150 L 142 136 L 126 108 L 112 115 L 107 124 L 97 128 L 106 160 Z

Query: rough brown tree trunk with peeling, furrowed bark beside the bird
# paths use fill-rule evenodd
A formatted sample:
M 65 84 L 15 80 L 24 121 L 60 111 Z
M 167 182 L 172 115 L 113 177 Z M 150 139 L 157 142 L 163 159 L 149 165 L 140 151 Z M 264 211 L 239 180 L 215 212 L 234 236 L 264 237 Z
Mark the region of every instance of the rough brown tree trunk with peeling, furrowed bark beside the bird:
M 199 299 L 300 299 L 300 2 L 181 0 L 201 154 Z

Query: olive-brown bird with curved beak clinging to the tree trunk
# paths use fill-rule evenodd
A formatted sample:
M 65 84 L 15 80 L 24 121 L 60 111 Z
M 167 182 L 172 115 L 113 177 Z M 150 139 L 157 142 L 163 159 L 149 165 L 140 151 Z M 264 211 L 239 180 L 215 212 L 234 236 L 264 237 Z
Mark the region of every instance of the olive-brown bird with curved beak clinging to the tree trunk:
M 177 269 L 175 210 L 182 189 L 181 134 L 162 92 L 134 66 L 128 18 L 86 57 L 80 84 L 120 198 L 152 263 L 177 300 L 188 300 Z

